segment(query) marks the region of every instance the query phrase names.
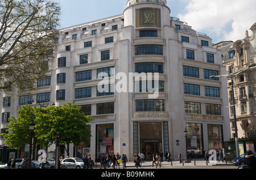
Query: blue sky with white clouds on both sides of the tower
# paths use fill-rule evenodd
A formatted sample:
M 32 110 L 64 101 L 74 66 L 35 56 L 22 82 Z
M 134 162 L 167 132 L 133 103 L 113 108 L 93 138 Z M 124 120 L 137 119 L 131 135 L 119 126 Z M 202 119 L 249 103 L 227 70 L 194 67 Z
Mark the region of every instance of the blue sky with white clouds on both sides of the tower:
M 59 0 L 61 28 L 123 13 L 127 0 Z M 236 41 L 256 23 L 255 0 L 167 0 L 170 16 L 180 18 L 213 43 Z

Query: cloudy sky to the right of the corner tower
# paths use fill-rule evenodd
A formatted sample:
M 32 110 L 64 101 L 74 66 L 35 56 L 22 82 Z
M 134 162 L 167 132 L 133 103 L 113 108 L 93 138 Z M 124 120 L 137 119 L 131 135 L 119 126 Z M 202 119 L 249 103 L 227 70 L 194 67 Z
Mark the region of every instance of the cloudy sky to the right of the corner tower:
M 187 2 L 185 14 L 179 14 L 197 32 L 216 38 L 213 41 L 236 41 L 256 22 L 255 0 L 181 0 Z M 250 31 L 249 31 L 250 35 Z

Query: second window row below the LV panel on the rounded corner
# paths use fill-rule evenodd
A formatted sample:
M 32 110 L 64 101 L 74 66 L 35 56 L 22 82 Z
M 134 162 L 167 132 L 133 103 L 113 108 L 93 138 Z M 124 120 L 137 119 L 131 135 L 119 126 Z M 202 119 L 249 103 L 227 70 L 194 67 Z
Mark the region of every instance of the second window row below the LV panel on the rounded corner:
M 135 46 L 135 55 L 144 55 L 144 54 L 163 55 L 163 46 L 161 45 Z

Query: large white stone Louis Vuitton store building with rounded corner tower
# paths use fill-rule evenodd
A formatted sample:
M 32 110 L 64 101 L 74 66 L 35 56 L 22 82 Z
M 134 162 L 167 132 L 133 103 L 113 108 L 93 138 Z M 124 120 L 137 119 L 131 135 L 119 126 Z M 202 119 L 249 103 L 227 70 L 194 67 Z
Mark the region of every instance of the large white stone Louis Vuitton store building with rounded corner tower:
M 10 103 L 3 97 L 1 132 L 18 106 L 49 100 L 80 105 L 94 119 L 90 144 L 72 147 L 71 156 L 118 152 L 131 160 L 143 152 L 150 160 L 170 151 L 177 159 L 186 147 L 197 157 L 222 148 L 230 138 L 227 83 L 210 78 L 226 74 L 221 51 L 170 14 L 166 0 L 130 0 L 121 15 L 60 29 L 56 61 L 38 91 Z

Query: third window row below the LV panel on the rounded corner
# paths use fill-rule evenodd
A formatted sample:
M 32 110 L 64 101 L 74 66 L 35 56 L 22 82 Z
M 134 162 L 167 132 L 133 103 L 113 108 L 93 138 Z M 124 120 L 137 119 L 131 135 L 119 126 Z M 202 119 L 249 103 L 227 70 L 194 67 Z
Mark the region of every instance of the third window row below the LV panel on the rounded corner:
M 135 64 L 135 72 L 158 72 L 159 74 L 163 74 L 163 63 L 156 62 L 143 62 Z

